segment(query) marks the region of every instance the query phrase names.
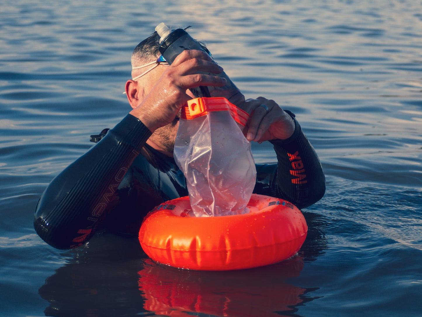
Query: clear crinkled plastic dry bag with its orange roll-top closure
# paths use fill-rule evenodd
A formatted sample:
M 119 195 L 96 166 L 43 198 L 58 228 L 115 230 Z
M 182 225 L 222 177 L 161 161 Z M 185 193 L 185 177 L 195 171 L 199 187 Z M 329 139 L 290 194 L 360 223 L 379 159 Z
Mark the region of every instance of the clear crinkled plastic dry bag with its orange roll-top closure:
M 195 216 L 249 212 L 256 181 L 251 144 L 242 133 L 249 115 L 223 97 L 196 98 L 182 108 L 174 147 Z

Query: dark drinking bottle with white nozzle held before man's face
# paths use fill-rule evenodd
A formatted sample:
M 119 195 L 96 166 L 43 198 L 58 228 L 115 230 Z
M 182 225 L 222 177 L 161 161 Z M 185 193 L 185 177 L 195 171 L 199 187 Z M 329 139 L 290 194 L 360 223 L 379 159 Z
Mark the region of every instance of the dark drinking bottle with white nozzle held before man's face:
M 176 29 L 171 31 L 164 23 L 160 23 L 155 28 L 160 38 L 159 51 L 165 58 L 167 63 L 171 65 L 175 58 L 185 49 L 197 49 L 206 52 L 211 56 L 208 49 L 201 46 L 195 39 L 193 39 L 185 30 Z M 209 73 L 208 73 L 209 74 Z M 222 72 L 216 76 L 223 77 L 227 80 L 224 87 L 195 87 L 191 88 L 193 95 L 199 97 L 225 97 L 230 103 L 238 107 L 242 107 L 245 102 L 245 97 L 230 80 L 230 78 Z

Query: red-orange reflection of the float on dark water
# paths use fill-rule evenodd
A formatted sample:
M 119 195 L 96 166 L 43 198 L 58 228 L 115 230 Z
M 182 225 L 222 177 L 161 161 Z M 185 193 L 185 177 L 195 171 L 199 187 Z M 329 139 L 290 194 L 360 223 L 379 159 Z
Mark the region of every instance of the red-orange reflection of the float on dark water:
M 239 271 L 189 271 L 146 260 L 139 271 L 144 309 L 158 315 L 191 317 L 265 317 L 292 311 L 306 289 L 285 282 L 299 276 L 301 257 L 261 268 Z

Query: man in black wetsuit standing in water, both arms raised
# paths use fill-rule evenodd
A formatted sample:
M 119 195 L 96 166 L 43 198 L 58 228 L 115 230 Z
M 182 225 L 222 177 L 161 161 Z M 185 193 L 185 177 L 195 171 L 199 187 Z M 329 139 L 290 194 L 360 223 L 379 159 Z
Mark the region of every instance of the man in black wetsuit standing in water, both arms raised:
M 186 50 L 165 66 L 157 60 L 158 45 L 159 36 L 153 33 L 133 52 L 133 79 L 126 83 L 132 111 L 105 136 L 95 137 L 102 139 L 41 196 L 34 227 L 51 246 L 80 246 L 104 227 L 137 234 L 149 210 L 188 195 L 173 158 L 180 109 L 193 98 L 189 88 L 221 87 L 225 79 L 213 75 L 222 68 L 201 51 Z M 321 199 L 322 167 L 295 116 L 263 97 L 248 99 L 242 109 L 251 114 L 246 138 L 271 142 L 278 161 L 257 164 L 254 193 L 286 199 L 298 208 Z

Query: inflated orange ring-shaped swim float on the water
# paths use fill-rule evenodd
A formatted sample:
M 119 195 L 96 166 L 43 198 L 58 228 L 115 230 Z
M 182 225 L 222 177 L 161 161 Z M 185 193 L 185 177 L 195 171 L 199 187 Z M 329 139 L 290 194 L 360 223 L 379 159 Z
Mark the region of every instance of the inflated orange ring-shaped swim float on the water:
M 248 207 L 242 215 L 191 217 L 189 197 L 169 200 L 146 216 L 139 241 L 152 260 L 192 270 L 255 268 L 298 252 L 308 227 L 295 205 L 252 194 Z

